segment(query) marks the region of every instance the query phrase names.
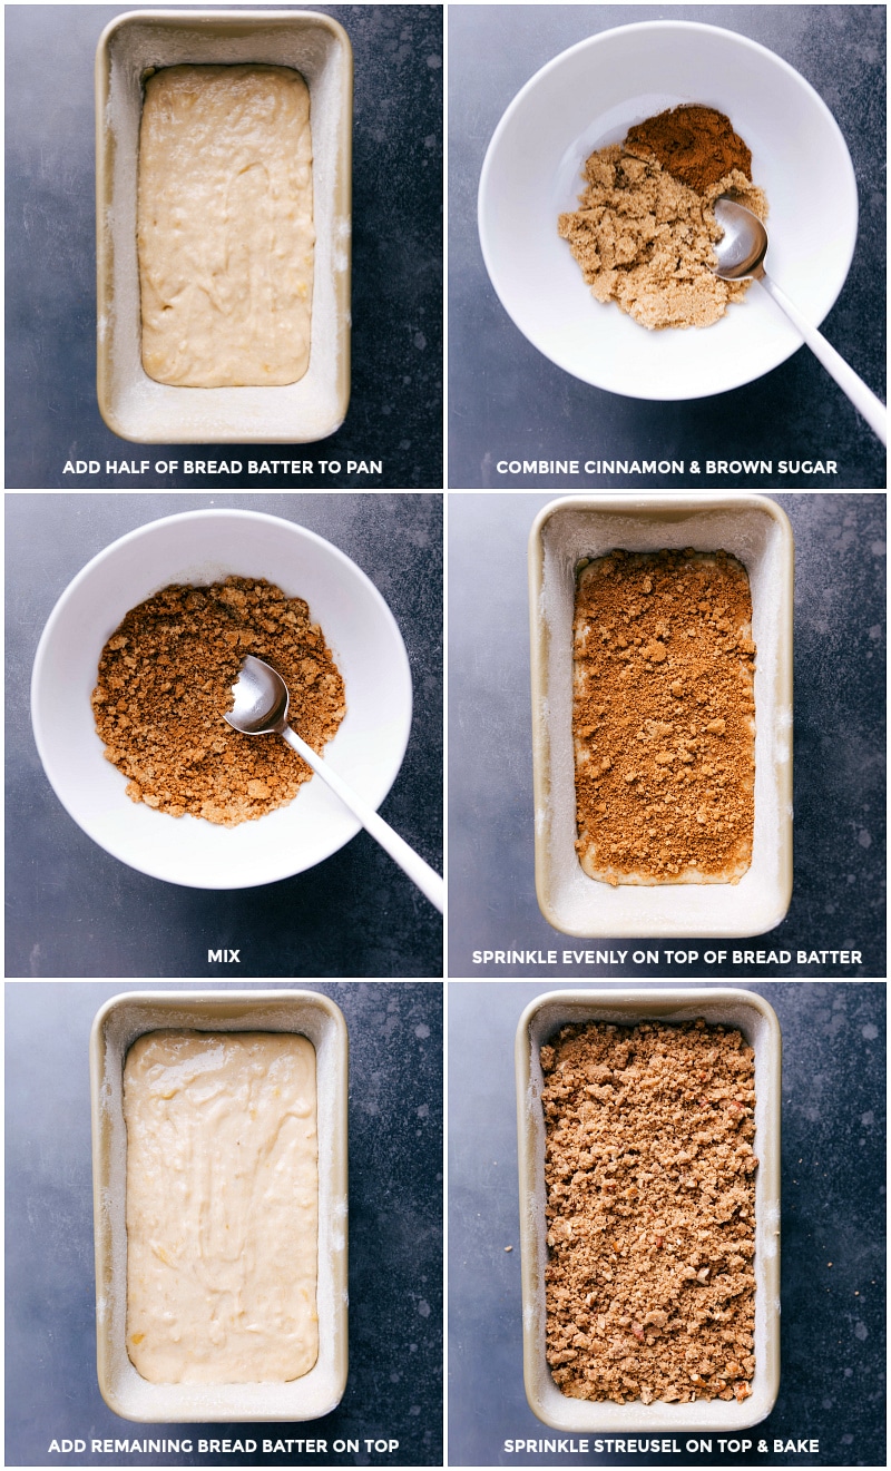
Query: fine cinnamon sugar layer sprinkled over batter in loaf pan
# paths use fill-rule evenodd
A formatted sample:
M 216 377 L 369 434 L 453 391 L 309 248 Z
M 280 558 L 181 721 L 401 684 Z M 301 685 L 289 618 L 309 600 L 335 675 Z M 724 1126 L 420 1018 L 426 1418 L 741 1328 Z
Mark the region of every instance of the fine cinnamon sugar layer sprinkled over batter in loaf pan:
M 609 884 L 735 884 L 754 831 L 754 643 L 726 552 L 610 552 L 573 622 L 576 852 Z

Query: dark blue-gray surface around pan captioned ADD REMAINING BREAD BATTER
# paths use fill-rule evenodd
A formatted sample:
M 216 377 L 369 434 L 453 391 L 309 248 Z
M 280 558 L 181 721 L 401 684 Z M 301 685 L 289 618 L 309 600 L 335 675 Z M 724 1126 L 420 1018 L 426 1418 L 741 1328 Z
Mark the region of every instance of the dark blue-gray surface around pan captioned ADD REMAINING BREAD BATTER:
M 443 984 L 313 983 L 350 1034 L 350 1374 L 306 1424 L 141 1425 L 96 1377 L 88 1039 L 137 987 L 7 983 L 6 1461 L 46 1465 L 441 1465 Z M 144 987 L 138 987 L 143 990 Z M 172 989 L 172 987 L 168 987 Z M 176 990 L 182 987 L 175 987 Z M 191 989 L 191 987 L 190 987 Z M 398 1440 L 368 1455 L 62 1455 L 53 1437 Z

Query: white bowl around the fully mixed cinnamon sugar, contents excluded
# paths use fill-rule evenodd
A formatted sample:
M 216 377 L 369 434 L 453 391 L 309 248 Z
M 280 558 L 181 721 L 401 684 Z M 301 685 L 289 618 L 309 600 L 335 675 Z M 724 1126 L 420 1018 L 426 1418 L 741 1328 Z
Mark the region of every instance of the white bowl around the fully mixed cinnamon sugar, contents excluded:
M 318 777 L 290 806 L 225 828 L 131 802 L 126 777 L 104 759 L 90 694 L 107 638 L 162 587 L 231 574 L 266 578 L 309 603 L 347 694 L 325 761 L 373 806 L 396 780 L 412 724 L 409 659 L 393 613 L 365 572 L 313 531 L 253 510 L 193 510 L 113 541 L 68 585 L 43 631 L 31 681 L 37 749 L 56 796 L 88 837 L 143 874 L 193 888 L 288 878 L 359 831 Z

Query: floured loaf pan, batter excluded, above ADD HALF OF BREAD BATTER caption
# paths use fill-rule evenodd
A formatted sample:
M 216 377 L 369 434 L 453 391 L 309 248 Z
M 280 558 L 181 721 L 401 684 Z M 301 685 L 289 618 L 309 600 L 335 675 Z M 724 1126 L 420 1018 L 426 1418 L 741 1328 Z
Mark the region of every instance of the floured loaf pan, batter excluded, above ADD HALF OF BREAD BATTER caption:
M 298 382 L 178 388 L 141 360 L 137 162 L 143 79 L 181 62 L 268 62 L 307 82 L 316 227 L 312 344 Z M 96 51 L 97 394 L 109 428 L 141 444 L 303 444 L 334 434 L 350 400 L 353 51 L 315 10 L 131 10 Z

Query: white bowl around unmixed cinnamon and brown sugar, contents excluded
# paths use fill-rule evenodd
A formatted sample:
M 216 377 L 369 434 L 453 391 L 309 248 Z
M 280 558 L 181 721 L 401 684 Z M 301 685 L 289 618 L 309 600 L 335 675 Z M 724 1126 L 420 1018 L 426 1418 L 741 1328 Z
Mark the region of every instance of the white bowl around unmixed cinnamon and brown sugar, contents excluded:
M 832 113 L 787 62 L 710 25 L 653 21 L 604 31 L 543 66 L 501 118 L 479 181 L 479 240 L 520 332 L 584 382 L 632 399 L 700 399 L 785 362 L 801 338 L 753 285 L 713 327 L 650 332 L 591 296 L 557 215 L 575 209 L 584 162 L 679 103 L 726 113 L 767 194 L 767 271 L 812 322 L 847 277 L 857 187 Z

